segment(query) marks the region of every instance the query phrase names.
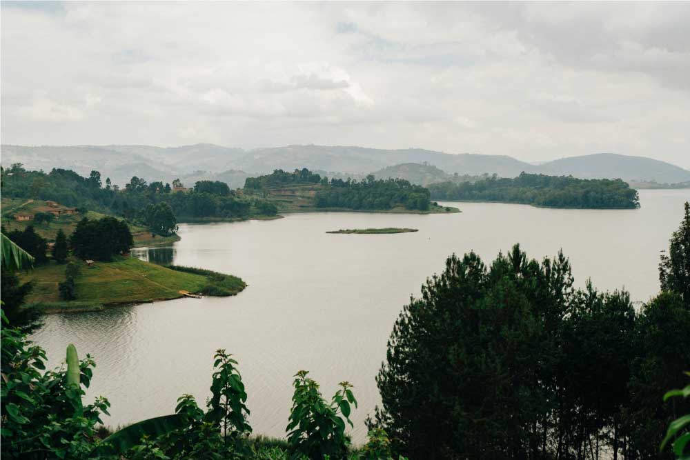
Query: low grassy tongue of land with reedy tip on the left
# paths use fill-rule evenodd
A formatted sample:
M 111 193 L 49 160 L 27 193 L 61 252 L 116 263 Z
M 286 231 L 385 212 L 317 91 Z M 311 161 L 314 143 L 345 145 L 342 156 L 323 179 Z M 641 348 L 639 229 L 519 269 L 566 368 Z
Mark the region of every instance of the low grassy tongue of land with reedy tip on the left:
M 59 283 L 65 279 L 65 264 L 50 262 L 22 274 L 33 281 L 26 302 L 42 312 L 101 310 L 107 306 L 178 299 L 184 292 L 218 297 L 235 295 L 246 283 L 229 274 L 180 266 L 159 266 L 133 257 L 112 262 L 80 263 L 75 277 L 75 301 L 61 301 Z M 181 292 L 183 291 L 183 292 Z

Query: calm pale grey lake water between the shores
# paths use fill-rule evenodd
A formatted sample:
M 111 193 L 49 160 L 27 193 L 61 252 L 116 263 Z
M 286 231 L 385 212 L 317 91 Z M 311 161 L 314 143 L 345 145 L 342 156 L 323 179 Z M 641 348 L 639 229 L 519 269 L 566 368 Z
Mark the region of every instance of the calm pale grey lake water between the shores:
M 46 317 L 34 340 L 58 366 L 68 343 L 95 357 L 90 398 L 108 397 L 110 426 L 172 413 L 177 397 L 204 406 L 213 352 L 235 354 L 255 433 L 282 436 L 295 372 L 311 371 L 330 397 L 355 385 L 355 441 L 379 403 L 374 377 L 402 306 L 452 252 L 490 261 L 520 242 L 530 257 L 562 248 L 579 286 L 658 291 L 657 265 L 690 190 L 642 190 L 638 210 L 553 210 L 455 203 L 460 214 L 293 214 L 275 221 L 181 225 L 172 248 L 139 257 L 242 277 L 236 297 L 179 299 Z M 402 234 L 326 234 L 340 228 L 411 227 Z

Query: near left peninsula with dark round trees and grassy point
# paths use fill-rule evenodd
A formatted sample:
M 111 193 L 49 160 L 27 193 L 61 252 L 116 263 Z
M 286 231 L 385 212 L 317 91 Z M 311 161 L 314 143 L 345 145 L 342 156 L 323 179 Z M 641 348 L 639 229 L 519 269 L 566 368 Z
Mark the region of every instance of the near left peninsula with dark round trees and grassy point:
M 3 239 L 26 251 L 33 262 L 28 272 L 2 270 L 2 300 L 11 319 L 43 312 L 101 310 L 104 306 L 190 294 L 225 297 L 246 287 L 242 279 L 229 274 L 160 266 L 129 257 L 132 232 L 126 221 L 116 217 L 85 217 L 69 237 L 59 229 L 52 248 L 32 225 L 12 231 L 3 226 L 2 234 Z

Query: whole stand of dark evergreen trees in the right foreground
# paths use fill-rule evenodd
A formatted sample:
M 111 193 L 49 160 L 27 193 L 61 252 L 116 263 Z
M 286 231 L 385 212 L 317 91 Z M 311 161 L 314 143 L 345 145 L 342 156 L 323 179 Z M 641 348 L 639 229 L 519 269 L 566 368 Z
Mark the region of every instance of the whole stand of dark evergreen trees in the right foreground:
M 669 459 L 667 426 L 690 412 L 662 401 L 690 369 L 673 286 L 636 313 L 627 292 L 575 290 L 562 254 L 453 255 L 395 322 L 369 424 L 413 460 Z

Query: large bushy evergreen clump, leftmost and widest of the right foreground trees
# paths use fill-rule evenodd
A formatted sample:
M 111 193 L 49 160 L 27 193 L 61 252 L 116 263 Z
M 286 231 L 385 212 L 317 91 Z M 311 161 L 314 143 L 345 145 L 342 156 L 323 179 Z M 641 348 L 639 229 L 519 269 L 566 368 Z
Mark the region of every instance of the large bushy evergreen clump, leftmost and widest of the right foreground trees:
M 516 245 L 489 268 L 474 252 L 449 257 L 404 307 L 377 377 L 377 424 L 395 450 L 411 459 L 544 454 L 572 283 L 562 254 L 538 263 Z

